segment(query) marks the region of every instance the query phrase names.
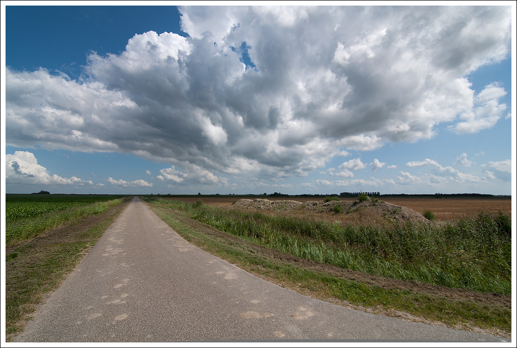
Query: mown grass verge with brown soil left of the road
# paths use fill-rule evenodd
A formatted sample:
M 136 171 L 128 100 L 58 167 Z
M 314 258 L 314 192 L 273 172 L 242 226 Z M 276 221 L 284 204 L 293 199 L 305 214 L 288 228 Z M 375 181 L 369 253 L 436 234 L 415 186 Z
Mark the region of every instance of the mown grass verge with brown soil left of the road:
M 59 287 L 128 203 L 126 199 L 103 213 L 68 220 L 67 226 L 6 249 L 7 341 L 23 330 L 23 321 L 44 294 Z

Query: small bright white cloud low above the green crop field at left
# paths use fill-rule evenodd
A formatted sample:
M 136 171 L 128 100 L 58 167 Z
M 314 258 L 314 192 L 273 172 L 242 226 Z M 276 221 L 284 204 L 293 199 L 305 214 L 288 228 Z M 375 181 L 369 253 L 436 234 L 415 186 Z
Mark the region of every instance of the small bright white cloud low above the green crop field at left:
M 6 184 L 93 185 L 91 180 L 78 177 L 63 178 L 49 175 L 47 168 L 38 164 L 34 153 L 15 151 L 5 157 Z

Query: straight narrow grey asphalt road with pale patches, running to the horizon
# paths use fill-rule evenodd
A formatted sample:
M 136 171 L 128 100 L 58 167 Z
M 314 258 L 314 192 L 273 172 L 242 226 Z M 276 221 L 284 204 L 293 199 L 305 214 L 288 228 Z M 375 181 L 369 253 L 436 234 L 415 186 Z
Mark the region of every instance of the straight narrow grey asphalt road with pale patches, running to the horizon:
M 16 342 L 509 341 L 283 289 L 194 247 L 134 198 Z

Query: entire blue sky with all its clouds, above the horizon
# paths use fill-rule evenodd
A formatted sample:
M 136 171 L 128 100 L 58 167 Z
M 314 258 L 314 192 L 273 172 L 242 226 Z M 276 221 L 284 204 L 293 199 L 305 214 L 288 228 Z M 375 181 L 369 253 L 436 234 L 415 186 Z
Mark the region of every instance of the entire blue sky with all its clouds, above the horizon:
M 497 4 L 4 4 L 4 192 L 510 195 Z

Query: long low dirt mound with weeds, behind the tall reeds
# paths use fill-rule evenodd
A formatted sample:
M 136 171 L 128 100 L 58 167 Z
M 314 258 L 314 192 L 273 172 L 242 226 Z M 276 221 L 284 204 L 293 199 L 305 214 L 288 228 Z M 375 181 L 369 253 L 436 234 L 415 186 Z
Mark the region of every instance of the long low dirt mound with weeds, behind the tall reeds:
M 422 214 L 400 205 L 387 203 L 384 201 L 368 200 L 359 201 L 308 201 L 298 202 L 294 200 L 274 200 L 268 199 L 240 199 L 232 207 L 240 209 L 263 209 L 271 211 L 306 210 L 315 213 L 334 213 L 336 205 L 340 205 L 341 212 L 336 214 L 350 214 L 359 210 L 371 210 L 383 216 L 388 222 L 428 222 Z

